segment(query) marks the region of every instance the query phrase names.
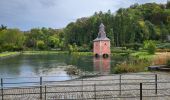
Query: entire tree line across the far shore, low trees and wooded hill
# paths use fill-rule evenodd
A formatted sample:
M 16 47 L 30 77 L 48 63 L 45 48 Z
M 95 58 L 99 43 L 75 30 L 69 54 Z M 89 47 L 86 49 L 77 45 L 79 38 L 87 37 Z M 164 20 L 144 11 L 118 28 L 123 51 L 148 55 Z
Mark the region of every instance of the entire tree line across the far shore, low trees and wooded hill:
M 170 35 L 170 2 L 134 4 L 117 12 L 95 12 L 63 29 L 33 28 L 27 32 L 0 27 L 0 50 L 92 50 L 100 23 L 106 26 L 112 47 L 140 46 L 146 40 L 166 42 Z

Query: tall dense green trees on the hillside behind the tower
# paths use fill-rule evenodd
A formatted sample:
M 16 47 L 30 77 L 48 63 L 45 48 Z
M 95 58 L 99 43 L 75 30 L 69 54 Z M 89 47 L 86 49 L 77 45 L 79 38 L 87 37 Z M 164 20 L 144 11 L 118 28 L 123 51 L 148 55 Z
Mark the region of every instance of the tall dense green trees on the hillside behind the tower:
M 98 26 L 103 22 L 112 46 L 128 46 L 135 43 L 133 49 L 137 50 L 140 47 L 138 44 L 145 40 L 166 40 L 166 35 L 170 33 L 170 23 L 167 21 L 169 15 L 169 9 L 156 3 L 120 8 L 116 14 L 111 14 L 110 11 L 95 13 L 89 18 L 80 18 L 67 25 L 66 43 L 91 45 L 89 41 L 97 37 Z

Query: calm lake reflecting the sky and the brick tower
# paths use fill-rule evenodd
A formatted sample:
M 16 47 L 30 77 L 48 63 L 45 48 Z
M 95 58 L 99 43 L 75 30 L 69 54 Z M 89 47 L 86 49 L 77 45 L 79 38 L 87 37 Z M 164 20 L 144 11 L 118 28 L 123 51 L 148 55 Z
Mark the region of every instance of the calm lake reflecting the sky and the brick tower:
M 126 57 L 115 56 L 111 58 L 94 58 L 93 56 L 78 56 L 68 54 L 44 54 L 44 55 L 18 55 L 0 60 L 0 77 L 23 77 L 6 79 L 6 82 L 28 81 L 24 77 L 61 76 L 48 77 L 45 80 L 69 80 L 73 76 L 65 71 L 65 66 L 76 66 L 86 73 L 111 73 L 111 66 L 115 66 L 125 60 Z M 9 81 L 10 80 L 10 81 Z

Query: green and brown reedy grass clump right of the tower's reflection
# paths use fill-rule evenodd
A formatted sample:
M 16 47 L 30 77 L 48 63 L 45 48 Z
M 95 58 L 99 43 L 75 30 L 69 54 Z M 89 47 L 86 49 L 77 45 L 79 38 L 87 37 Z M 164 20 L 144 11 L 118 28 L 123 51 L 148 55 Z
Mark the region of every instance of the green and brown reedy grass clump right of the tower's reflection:
M 114 73 L 145 72 L 153 62 L 156 55 L 146 51 L 137 51 L 129 54 L 129 59 L 116 65 Z

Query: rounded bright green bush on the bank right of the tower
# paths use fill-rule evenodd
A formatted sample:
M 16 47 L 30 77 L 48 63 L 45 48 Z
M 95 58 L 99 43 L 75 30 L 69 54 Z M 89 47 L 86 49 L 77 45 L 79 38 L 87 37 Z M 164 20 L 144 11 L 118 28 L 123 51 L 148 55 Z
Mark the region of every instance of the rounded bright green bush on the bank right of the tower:
M 144 48 L 147 50 L 149 54 L 155 54 L 156 52 L 155 41 L 152 41 L 152 40 L 144 41 Z

